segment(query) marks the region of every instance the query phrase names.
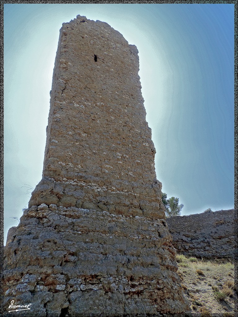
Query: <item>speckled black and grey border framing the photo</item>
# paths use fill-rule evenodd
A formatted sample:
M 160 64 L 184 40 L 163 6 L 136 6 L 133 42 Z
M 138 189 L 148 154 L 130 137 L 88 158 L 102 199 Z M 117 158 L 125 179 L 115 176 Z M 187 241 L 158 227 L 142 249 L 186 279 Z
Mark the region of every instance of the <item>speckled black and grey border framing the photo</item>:
M 0 86 L 0 93 L 1 93 L 1 98 L 0 98 L 0 172 L 1 172 L 1 176 L 0 176 L 0 225 L 1 225 L 1 229 L 0 229 L 0 255 L 1 255 L 1 263 L 0 263 L 0 269 L 1 269 L 1 281 L 3 279 L 3 251 L 4 251 L 4 247 L 3 247 L 3 216 L 4 216 L 4 212 L 3 212 L 3 178 L 4 178 L 4 174 L 3 174 L 3 123 L 4 123 L 4 118 L 3 118 L 3 10 L 4 10 L 4 4 L 13 4 L 13 3 L 18 3 L 18 4 L 80 4 L 80 3 L 93 3 L 93 4 L 97 4 L 97 3 L 104 3 L 104 4 L 126 4 L 126 3 L 154 3 L 154 4 L 179 4 L 179 3 L 188 3 L 188 4 L 196 4 L 196 3 L 201 3 L 201 4 L 234 4 L 235 5 L 235 37 L 234 37 L 234 41 L 235 41 L 235 47 L 238 47 L 238 41 L 237 41 L 237 7 L 238 7 L 238 1 L 0 1 L 0 72 L 1 72 L 1 77 L 0 77 L 0 81 L 1 81 L 1 86 Z M 235 163 L 235 179 L 234 179 L 234 184 L 235 184 L 235 192 L 234 192 L 234 196 L 235 196 L 235 218 L 237 220 L 237 169 L 238 169 L 238 165 L 237 165 L 237 139 L 238 139 L 238 128 L 237 128 L 237 117 L 238 117 L 238 110 L 237 110 L 237 50 L 235 50 L 235 68 L 234 68 L 234 74 L 235 74 L 235 81 L 234 81 L 234 89 L 235 89 L 235 108 L 234 108 L 234 113 L 235 113 L 235 130 L 234 130 L 234 135 L 235 135 L 235 157 L 234 157 L 234 163 Z M 237 227 L 235 226 L 235 237 L 236 237 L 236 243 L 238 242 L 238 235 L 237 235 Z M 238 261 L 238 254 L 235 250 L 235 282 L 237 285 L 237 261 Z M 2 301 L 3 301 L 3 283 L 1 283 L 1 293 L 0 293 L 0 304 L 2 307 Z M 237 313 L 237 298 L 235 299 L 235 312 Z M 218 316 L 216 314 L 216 316 Z M 223 316 L 222 314 L 220 314 L 220 316 Z

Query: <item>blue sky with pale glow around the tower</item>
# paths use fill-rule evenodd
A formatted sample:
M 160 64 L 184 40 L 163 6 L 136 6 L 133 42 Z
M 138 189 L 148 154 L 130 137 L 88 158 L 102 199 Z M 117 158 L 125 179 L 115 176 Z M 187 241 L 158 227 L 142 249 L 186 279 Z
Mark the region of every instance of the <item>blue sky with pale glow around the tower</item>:
M 78 14 L 139 50 L 162 191 L 182 215 L 234 208 L 234 4 L 4 4 L 5 239 L 42 178 L 59 29 Z

